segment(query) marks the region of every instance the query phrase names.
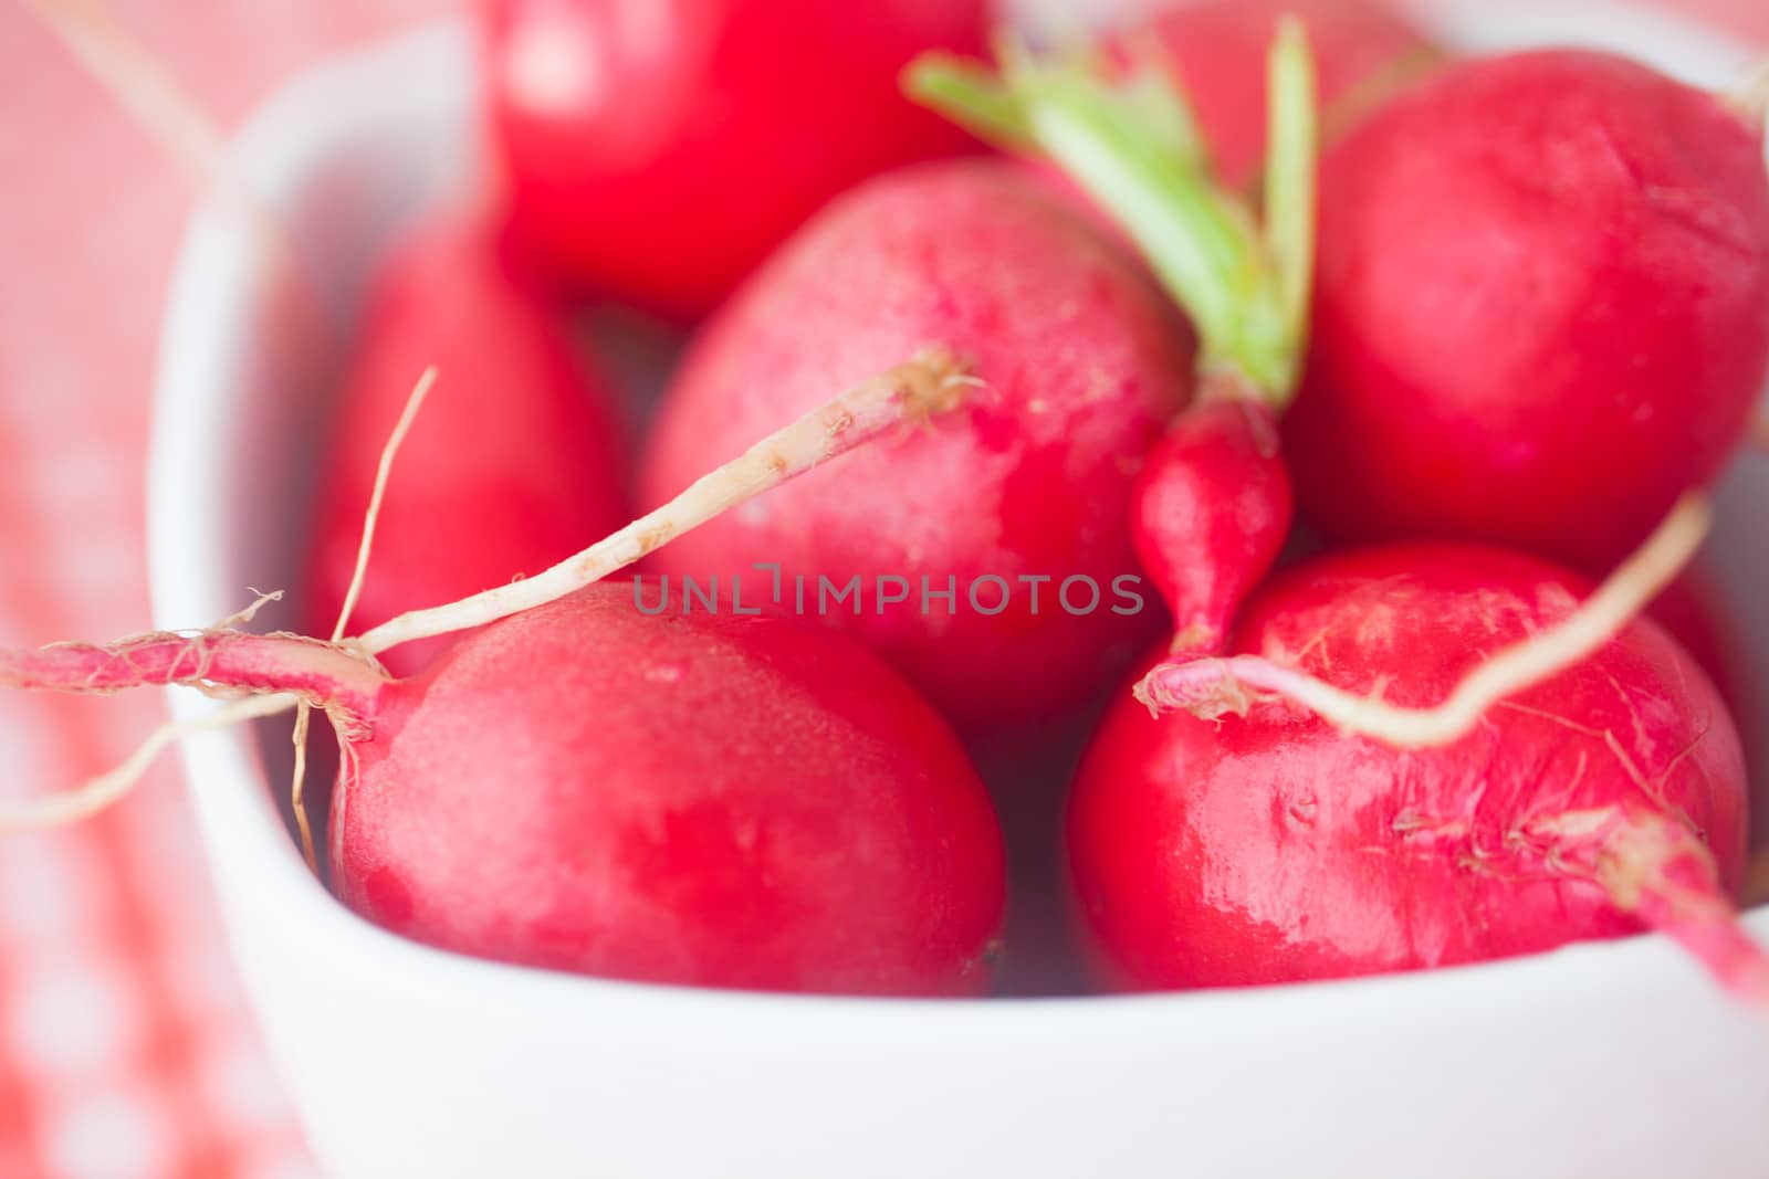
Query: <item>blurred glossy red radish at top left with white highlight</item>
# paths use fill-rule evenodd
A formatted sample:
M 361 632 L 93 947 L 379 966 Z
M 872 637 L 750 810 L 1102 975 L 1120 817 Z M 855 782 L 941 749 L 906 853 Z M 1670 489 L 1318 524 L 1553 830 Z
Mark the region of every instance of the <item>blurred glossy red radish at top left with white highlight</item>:
M 570 279 L 706 313 L 837 193 L 968 148 L 897 74 L 980 49 L 987 19 L 982 0 L 488 0 L 513 224 Z

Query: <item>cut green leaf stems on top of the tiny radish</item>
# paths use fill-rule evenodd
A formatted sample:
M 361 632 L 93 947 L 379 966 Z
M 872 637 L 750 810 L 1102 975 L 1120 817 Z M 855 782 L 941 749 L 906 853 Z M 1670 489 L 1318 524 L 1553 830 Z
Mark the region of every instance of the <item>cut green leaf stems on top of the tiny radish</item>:
M 1084 49 L 1037 57 L 1005 41 L 999 69 L 950 55 L 916 60 L 904 87 L 1007 148 L 1056 161 L 1136 240 L 1185 308 L 1203 371 L 1275 412 L 1295 398 L 1314 270 L 1314 57 L 1302 23 L 1279 25 L 1270 57 L 1265 217 L 1217 186 L 1198 120 L 1155 55 L 1111 80 Z

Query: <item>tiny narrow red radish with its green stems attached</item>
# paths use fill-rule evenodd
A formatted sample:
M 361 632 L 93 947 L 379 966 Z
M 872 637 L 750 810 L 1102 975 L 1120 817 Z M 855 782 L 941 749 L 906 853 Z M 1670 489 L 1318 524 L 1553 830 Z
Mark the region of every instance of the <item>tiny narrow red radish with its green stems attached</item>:
M 1198 118 L 1162 62 L 1113 78 L 1090 55 L 1053 62 L 1008 46 L 999 78 L 946 57 L 909 78 L 980 133 L 1054 157 L 1143 247 L 1198 329 L 1198 399 L 1150 451 L 1130 500 L 1137 557 L 1173 612 L 1175 654 L 1221 649 L 1293 521 L 1277 421 L 1307 339 L 1318 138 L 1298 21 L 1279 25 L 1268 57 L 1263 224 L 1214 182 Z

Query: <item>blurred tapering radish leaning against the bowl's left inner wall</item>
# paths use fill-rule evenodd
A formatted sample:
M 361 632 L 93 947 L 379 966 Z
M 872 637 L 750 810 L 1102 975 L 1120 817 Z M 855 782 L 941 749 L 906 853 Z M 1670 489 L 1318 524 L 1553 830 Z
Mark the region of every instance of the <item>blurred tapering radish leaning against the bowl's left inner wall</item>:
M 614 394 L 488 226 L 440 219 L 405 237 L 361 331 L 320 477 L 313 633 L 338 619 L 380 447 L 428 364 L 440 384 L 382 504 L 357 622 L 540 573 L 632 520 Z M 389 666 L 416 672 L 442 645 L 402 649 Z

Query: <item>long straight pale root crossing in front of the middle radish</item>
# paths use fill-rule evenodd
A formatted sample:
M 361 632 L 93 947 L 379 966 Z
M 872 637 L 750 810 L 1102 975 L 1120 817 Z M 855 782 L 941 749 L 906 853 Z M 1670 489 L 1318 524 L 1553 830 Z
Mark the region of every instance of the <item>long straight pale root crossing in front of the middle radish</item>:
M 923 348 L 909 362 L 812 410 L 750 447 L 741 458 L 699 479 L 663 507 L 552 569 L 448 606 L 400 615 L 350 645 L 368 654 L 380 654 L 402 643 L 469 631 L 557 601 L 624 569 L 738 504 L 847 454 L 897 426 L 920 424 L 957 408 L 973 387 L 975 380 L 966 364 L 948 348 Z

